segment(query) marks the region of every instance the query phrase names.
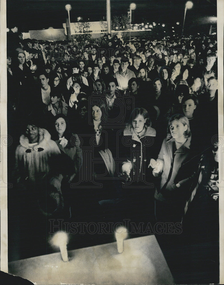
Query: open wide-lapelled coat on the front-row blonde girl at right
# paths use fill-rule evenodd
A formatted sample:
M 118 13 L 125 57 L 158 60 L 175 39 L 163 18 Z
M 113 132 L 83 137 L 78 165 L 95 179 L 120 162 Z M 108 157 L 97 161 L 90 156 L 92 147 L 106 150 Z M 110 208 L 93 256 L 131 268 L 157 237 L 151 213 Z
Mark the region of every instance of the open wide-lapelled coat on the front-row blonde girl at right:
M 164 139 L 157 159 L 162 172 L 160 181 L 156 185 L 155 199 L 167 203 L 179 203 L 189 198 L 200 162 L 200 157 L 190 150 L 190 141 L 191 138 L 188 138 L 174 152 L 174 156 L 175 139 Z M 177 187 L 177 184 L 180 186 Z

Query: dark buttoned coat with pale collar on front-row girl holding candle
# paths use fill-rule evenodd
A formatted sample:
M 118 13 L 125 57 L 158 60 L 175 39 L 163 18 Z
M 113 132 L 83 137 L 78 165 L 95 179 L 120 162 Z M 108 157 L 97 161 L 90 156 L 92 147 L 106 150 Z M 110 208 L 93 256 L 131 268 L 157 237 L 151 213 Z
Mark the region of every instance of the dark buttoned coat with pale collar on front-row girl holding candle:
M 126 127 L 120 138 L 118 149 L 120 162 L 131 162 L 130 178 L 133 184 L 153 187 L 152 169 L 148 168 L 151 158 L 154 158 L 156 131 L 147 127 L 144 136 L 138 138 L 133 128 Z M 119 170 L 121 165 L 119 166 Z

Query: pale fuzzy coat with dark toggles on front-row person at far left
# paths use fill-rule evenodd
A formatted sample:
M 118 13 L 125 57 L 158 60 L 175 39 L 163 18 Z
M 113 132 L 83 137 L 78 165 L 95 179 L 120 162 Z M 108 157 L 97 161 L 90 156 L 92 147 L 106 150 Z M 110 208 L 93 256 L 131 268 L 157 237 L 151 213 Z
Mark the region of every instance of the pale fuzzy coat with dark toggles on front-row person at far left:
M 51 135 L 45 129 L 39 128 L 39 142 L 30 145 L 24 135 L 16 148 L 16 176 L 30 182 L 43 181 L 50 167 L 48 160 L 52 155 L 60 154 L 57 144 L 51 140 Z

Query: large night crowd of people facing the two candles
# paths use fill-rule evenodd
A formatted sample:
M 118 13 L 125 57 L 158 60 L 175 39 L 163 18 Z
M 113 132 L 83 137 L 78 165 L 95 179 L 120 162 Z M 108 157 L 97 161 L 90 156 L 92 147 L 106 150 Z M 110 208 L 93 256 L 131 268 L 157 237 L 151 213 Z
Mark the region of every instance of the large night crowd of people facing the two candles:
M 9 179 L 32 209 L 144 202 L 182 221 L 198 184 L 218 207 L 211 36 L 42 46 L 10 31 L 7 102 Z

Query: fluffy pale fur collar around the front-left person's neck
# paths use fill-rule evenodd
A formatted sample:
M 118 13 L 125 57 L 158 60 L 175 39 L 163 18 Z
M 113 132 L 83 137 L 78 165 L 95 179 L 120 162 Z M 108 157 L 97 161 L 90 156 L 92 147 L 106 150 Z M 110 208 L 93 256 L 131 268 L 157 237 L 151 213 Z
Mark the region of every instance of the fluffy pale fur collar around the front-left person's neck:
M 24 135 L 21 135 L 19 142 L 20 142 L 20 145 L 23 146 L 24 148 L 40 151 L 38 150 L 38 148 L 43 150 L 50 140 L 51 140 L 51 135 L 48 133 L 48 131 L 45 129 L 39 128 L 38 144 L 34 146 L 30 146 L 28 138 Z

